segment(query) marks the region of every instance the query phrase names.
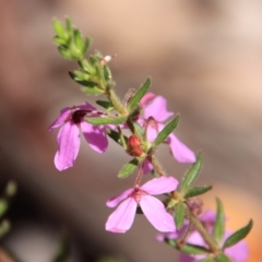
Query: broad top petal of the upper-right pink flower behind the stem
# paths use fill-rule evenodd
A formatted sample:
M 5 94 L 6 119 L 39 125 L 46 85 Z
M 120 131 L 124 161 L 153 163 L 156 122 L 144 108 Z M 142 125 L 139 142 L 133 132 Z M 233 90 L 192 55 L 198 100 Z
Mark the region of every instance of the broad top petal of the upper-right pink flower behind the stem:
M 144 108 L 144 118 L 153 117 L 157 122 L 163 122 L 172 115 L 167 110 L 167 100 L 163 96 L 157 96 Z

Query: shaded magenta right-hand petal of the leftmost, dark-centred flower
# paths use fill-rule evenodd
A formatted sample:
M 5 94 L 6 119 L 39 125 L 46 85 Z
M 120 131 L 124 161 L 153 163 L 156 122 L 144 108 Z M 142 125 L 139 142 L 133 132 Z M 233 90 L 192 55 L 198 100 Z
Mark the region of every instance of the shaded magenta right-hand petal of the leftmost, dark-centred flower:
M 108 146 L 108 140 L 104 128 L 93 126 L 85 121 L 80 124 L 83 135 L 90 146 L 98 153 L 104 153 Z

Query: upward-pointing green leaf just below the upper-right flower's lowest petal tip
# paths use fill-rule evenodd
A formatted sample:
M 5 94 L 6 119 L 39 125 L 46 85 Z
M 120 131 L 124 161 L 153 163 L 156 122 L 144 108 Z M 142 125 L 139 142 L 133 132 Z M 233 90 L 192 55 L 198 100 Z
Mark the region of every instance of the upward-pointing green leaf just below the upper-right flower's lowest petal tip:
M 198 177 L 201 166 L 202 166 L 202 154 L 199 154 L 196 157 L 196 162 L 190 167 L 190 169 L 187 171 L 187 174 L 182 179 L 181 191 L 184 194 L 188 192 L 190 186 L 193 183 L 193 181 Z

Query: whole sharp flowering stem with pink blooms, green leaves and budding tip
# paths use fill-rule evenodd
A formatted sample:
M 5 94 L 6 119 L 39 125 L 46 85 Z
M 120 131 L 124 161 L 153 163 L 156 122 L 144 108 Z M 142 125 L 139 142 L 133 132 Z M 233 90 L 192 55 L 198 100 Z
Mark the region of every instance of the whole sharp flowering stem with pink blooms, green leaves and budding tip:
M 57 135 L 59 148 L 55 155 L 58 170 L 72 167 L 80 150 L 80 133 L 91 148 L 97 153 L 106 152 L 108 139 L 114 140 L 132 159 L 119 171 L 126 178 L 136 171 L 133 187 L 107 201 L 108 207 L 118 206 L 106 222 L 106 230 L 128 231 L 135 214 L 141 211 L 153 227 L 164 233 L 158 240 L 184 252 L 180 262 L 205 261 L 243 262 L 247 259 L 247 245 L 243 238 L 252 227 L 252 221 L 238 231 L 230 234 L 225 229 L 223 204 L 217 200 L 216 213 L 202 214 L 200 194 L 212 189 L 211 186 L 194 187 L 200 174 L 202 154 L 195 154 L 174 133 L 179 115 L 167 109 L 163 96 L 148 91 L 151 79 L 140 88 L 130 90 L 120 100 L 115 92 L 115 82 L 108 62 L 115 56 L 103 56 L 98 51 L 85 58 L 91 39 L 83 39 L 78 28 L 67 20 L 67 26 L 55 20 L 57 33 L 55 43 L 67 59 L 76 60 L 79 69 L 70 76 L 81 84 L 87 95 L 104 95 L 106 99 L 96 100 L 97 109 L 88 103 L 67 107 L 50 126 L 60 130 Z M 167 176 L 157 158 L 157 148 L 167 144 L 178 163 L 190 164 L 180 182 Z M 145 174 L 151 172 L 152 179 Z M 148 181 L 141 186 L 143 179 Z M 165 200 L 153 195 L 163 195 Z M 196 199 L 196 201 L 195 201 Z M 203 260 L 204 259 L 204 260 Z

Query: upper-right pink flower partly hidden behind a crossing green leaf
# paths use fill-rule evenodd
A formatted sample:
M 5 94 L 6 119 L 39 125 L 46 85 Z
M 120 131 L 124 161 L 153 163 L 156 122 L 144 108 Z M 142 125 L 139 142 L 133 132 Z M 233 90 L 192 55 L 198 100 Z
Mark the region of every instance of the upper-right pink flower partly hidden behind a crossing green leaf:
M 148 100 L 152 100 L 151 104 L 145 105 Z M 153 93 L 147 93 L 141 100 L 141 105 L 144 106 L 144 119 L 142 119 L 142 124 L 145 123 L 145 120 L 152 117 L 156 123 L 157 129 L 151 124 L 147 128 L 147 139 L 150 142 L 154 142 L 159 131 L 165 127 L 164 122 L 171 116 L 174 112 L 167 110 L 167 102 L 163 96 L 154 97 Z M 194 153 L 184 145 L 174 133 L 169 134 L 166 140 L 166 143 L 169 145 L 170 151 L 174 157 L 180 163 L 194 163 L 195 155 Z

